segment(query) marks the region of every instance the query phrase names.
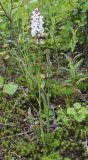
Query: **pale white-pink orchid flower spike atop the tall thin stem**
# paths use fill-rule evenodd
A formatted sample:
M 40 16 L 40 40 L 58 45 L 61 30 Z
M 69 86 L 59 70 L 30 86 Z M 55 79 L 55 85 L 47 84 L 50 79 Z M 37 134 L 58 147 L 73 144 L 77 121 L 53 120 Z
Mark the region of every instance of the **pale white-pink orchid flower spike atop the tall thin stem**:
M 36 38 L 36 44 L 42 44 L 44 36 L 43 16 L 40 15 L 38 8 L 32 12 L 31 17 L 31 35 Z

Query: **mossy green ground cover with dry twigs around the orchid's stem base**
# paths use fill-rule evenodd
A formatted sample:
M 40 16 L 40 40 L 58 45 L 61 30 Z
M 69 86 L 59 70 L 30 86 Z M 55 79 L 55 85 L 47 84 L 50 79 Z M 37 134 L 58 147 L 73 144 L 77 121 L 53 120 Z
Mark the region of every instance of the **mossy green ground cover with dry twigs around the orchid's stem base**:
M 9 73 L 12 76 L 12 68 L 8 69 L 11 70 Z M 32 160 L 74 160 L 74 158 L 87 160 L 86 119 L 88 115 L 79 122 L 75 119 L 76 113 L 70 115 L 69 112 L 68 114 L 69 107 L 72 108 L 73 103 L 79 101 L 79 90 L 87 93 L 87 82 L 81 82 L 79 86 L 76 86 L 78 89 L 76 92 L 73 86 L 68 86 L 63 82 L 45 80 L 45 88 L 49 90 L 50 102 L 54 107 L 49 113 L 50 133 L 46 133 L 46 125 L 44 125 L 46 155 L 43 155 L 44 146 L 39 135 L 40 131 L 37 129 L 35 133 L 34 128 L 30 128 L 28 119 L 29 108 L 33 117 L 36 111 L 39 112 L 36 95 L 31 94 L 31 91 L 27 89 L 23 76 L 19 77 L 17 74 L 16 77 L 18 77 L 16 83 L 20 86 L 18 91 L 12 96 L 0 93 L 0 123 L 3 124 L 0 135 L 4 159 L 10 160 L 15 157 L 26 160 L 30 157 Z M 38 94 L 37 91 L 36 94 Z M 82 107 L 87 108 L 87 103 L 82 102 Z M 45 117 L 44 112 L 43 114 Z

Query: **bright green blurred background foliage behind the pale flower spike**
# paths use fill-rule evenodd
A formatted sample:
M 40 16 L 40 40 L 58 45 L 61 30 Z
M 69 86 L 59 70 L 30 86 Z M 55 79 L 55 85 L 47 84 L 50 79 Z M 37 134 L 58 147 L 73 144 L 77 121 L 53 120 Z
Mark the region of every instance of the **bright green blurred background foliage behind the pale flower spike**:
M 6 0 L 3 0 L 2 3 L 7 11 L 7 15 L 9 16 L 12 14 L 13 23 L 17 28 L 20 43 L 22 43 L 22 34 L 25 35 L 25 40 L 28 40 L 26 35 L 30 31 L 29 19 L 32 10 L 36 6 L 40 8 L 41 13 L 44 16 L 47 47 L 55 49 L 57 46 L 57 48 L 61 48 L 61 50 L 70 49 L 71 51 L 74 51 L 78 41 L 79 43 L 84 43 L 85 41 L 83 30 L 86 24 L 86 1 L 55 0 L 51 2 L 50 0 L 47 0 L 42 2 L 39 0 L 33 3 L 30 1 L 23 1 L 23 3 L 14 1 L 14 9 L 11 10 L 11 12 L 10 1 L 7 2 Z M 4 21 L 5 17 L 3 17 L 3 14 L 1 19 L 1 28 L 10 35 L 9 23 L 7 20 Z M 80 35 L 82 37 L 81 39 Z M 6 37 L 6 39 L 8 38 L 9 36 Z

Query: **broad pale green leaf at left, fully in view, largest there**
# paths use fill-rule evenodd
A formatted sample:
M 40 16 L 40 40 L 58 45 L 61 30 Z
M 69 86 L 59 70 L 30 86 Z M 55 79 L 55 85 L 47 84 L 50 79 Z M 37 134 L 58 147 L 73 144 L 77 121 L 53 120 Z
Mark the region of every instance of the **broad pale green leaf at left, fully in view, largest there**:
M 18 88 L 18 85 L 17 84 L 13 84 L 11 82 L 11 83 L 8 83 L 8 84 L 4 85 L 3 92 L 7 93 L 9 95 L 13 95 L 17 91 L 17 88 Z

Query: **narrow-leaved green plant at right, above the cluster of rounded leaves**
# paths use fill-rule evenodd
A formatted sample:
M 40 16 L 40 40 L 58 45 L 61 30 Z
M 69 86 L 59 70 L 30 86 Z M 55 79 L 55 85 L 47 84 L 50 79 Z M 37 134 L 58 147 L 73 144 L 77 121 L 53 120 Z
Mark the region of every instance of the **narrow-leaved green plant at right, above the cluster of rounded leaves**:
M 80 71 L 80 67 L 82 65 L 83 59 L 80 58 L 81 55 L 77 55 L 74 58 L 63 54 L 66 57 L 66 60 L 68 61 L 67 67 L 61 67 L 61 69 L 67 73 L 67 79 L 65 80 L 65 84 L 68 86 L 72 86 L 73 90 L 78 90 L 78 86 L 80 86 L 80 83 L 83 81 L 86 82 L 88 80 L 88 74 L 83 74 Z M 80 92 L 78 90 L 78 92 Z

